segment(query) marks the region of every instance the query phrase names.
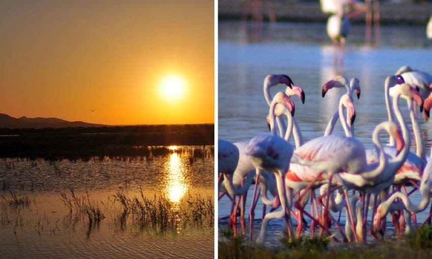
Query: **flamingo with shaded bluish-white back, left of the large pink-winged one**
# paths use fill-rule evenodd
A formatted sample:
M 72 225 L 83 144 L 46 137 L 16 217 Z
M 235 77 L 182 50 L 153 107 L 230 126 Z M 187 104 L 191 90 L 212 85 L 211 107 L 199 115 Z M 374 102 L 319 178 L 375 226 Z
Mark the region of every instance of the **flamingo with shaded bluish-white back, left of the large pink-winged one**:
M 279 92 L 274 96 L 273 102 L 270 107 L 271 114 L 274 114 L 274 108 L 276 103 L 284 103 L 289 99 L 286 94 Z M 288 130 L 286 132 L 286 139 L 292 131 L 292 115 L 288 109 L 285 109 L 284 114 L 288 118 Z M 287 197 L 285 193 L 285 179 L 283 175 L 288 170 L 290 165 L 290 160 L 293 154 L 293 148 L 289 142 L 281 137 L 278 137 L 275 131 L 274 125 L 275 118 L 272 116 L 271 125 L 272 131 L 271 136 L 259 136 L 253 138 L 248 146 L 246 146 L 246 154 L 251 156 L 252 163 L 254 164 L 257 175 L 259 171 L 271 171 L 276 178 L 277 192 L 279 199 L 281 200 L 282 210 L 270 212 L 265 215 L 262 225 L 260 236 L 257 239 L 257 243 L 262 243 L 265 238 L 265 232 L 267 228 L 268 221 L 273 218 L 284 217 L 285 221 L 289 227 L 288 232 L 292 235 L 291 230 L 291 219 L 290 219 L 290 205 L 287 203 Z M 288 198 L 288 200 L 290 200 Z

